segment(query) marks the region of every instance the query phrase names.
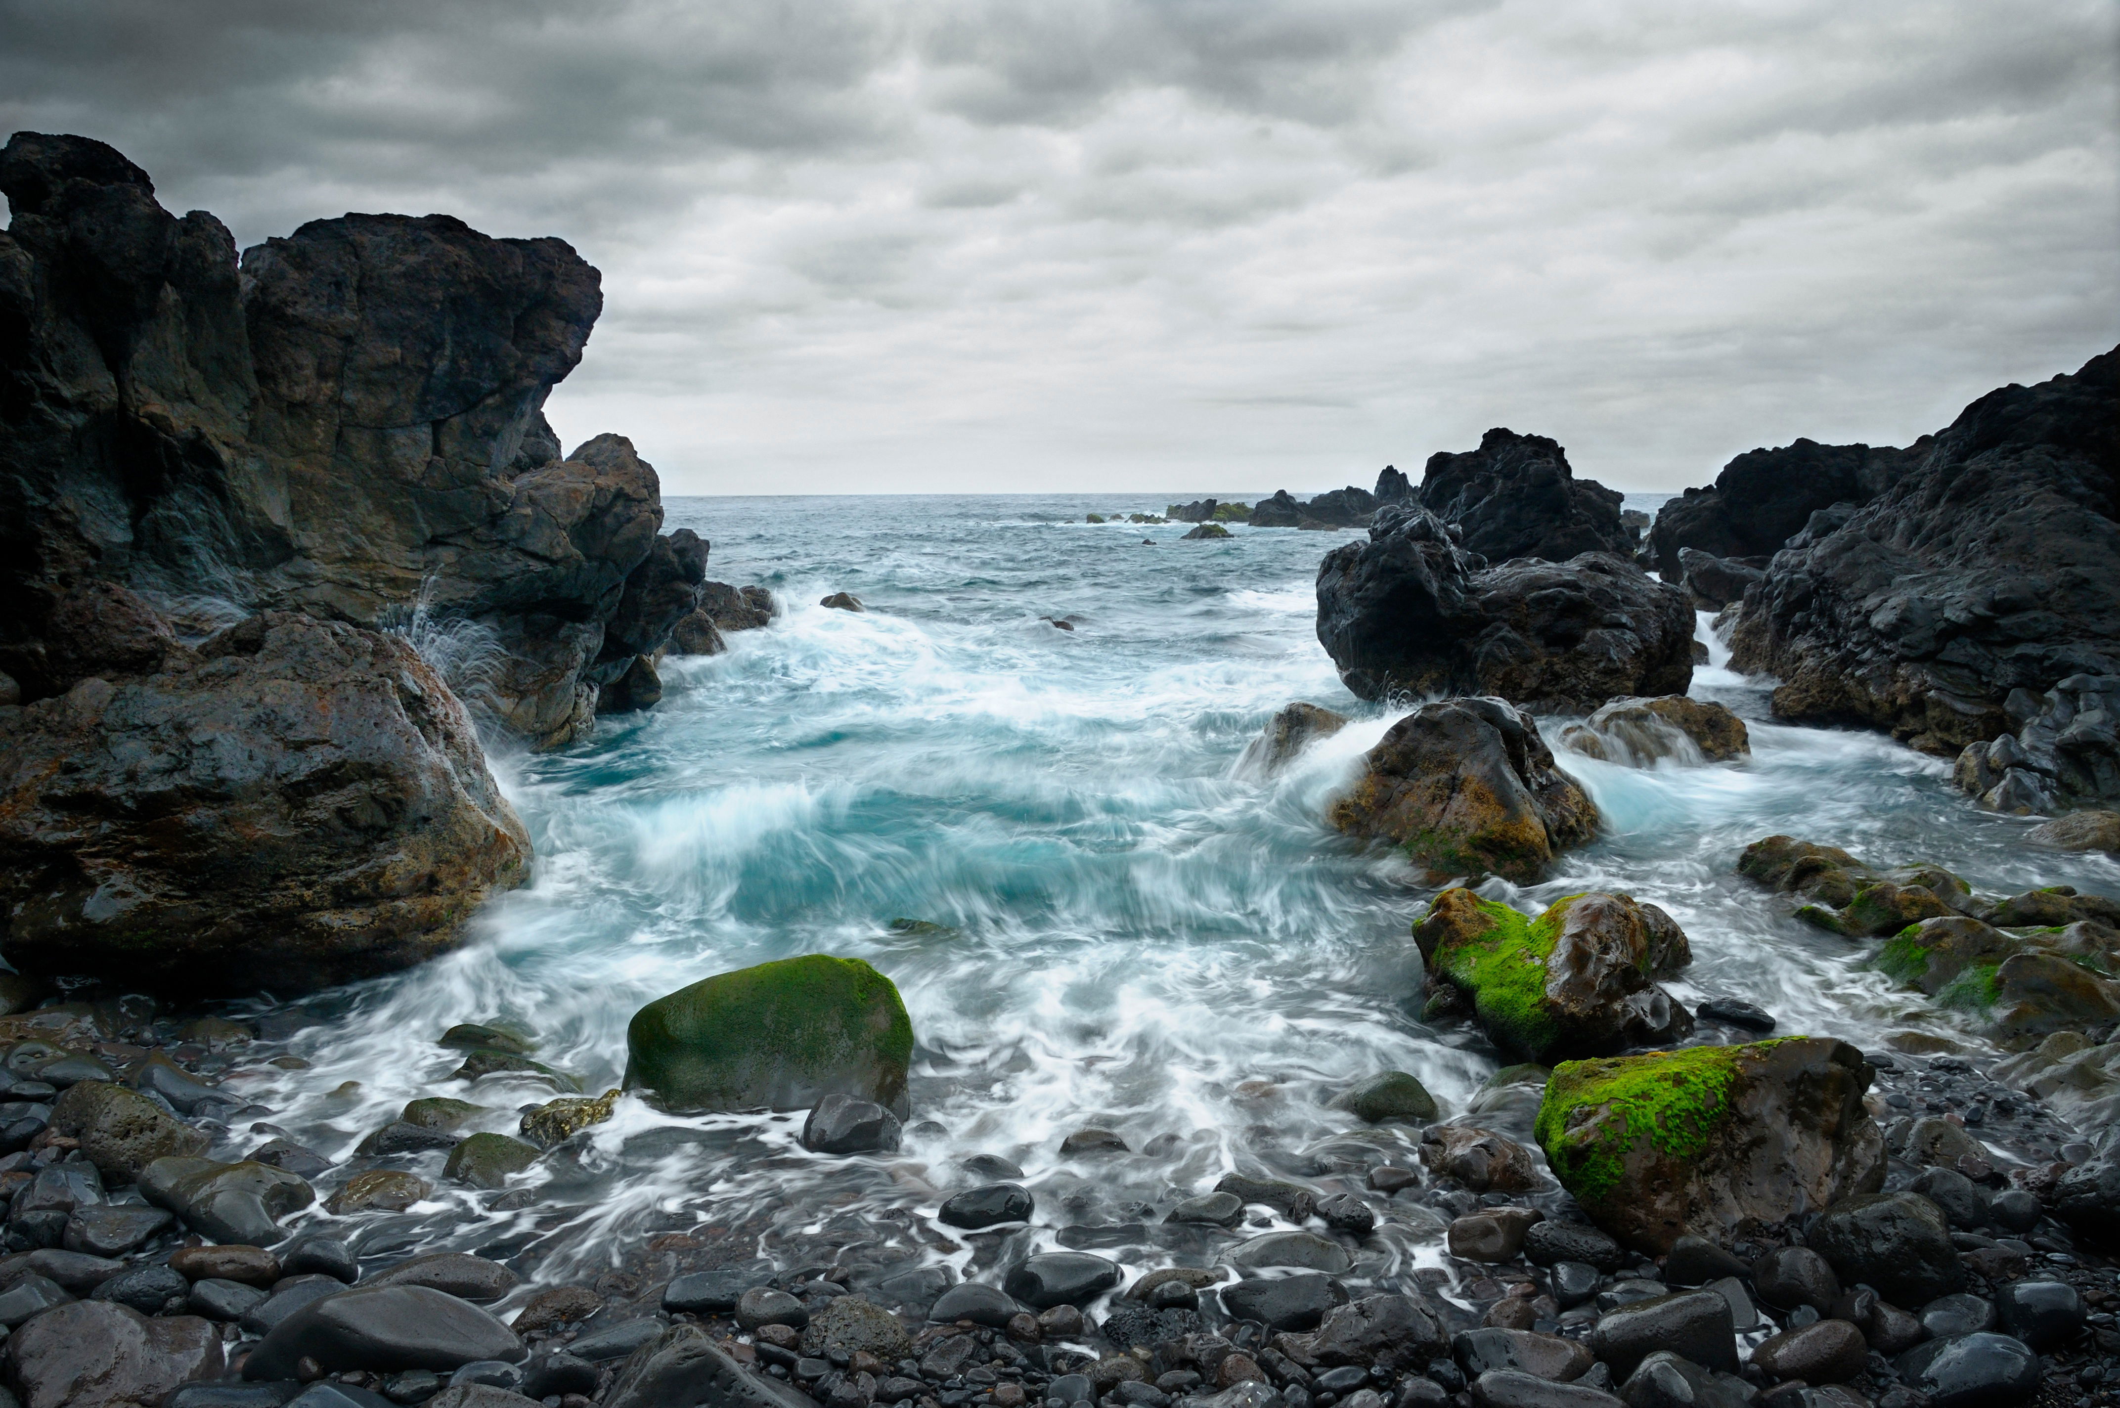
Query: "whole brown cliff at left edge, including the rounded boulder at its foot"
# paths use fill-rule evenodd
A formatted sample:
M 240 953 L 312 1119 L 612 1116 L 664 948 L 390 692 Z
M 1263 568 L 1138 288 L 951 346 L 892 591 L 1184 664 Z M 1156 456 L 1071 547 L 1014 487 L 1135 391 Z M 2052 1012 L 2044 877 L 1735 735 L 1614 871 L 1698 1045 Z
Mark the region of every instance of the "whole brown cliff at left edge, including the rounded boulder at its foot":
M 464 700 L 579 738 L 706 575 L 625 439 L 545 424 L 596 269 L 386 214 L 237 261 L 72 136 L 0 191 L 0 950 L 233 992 L 447 948 L 530 855 Z

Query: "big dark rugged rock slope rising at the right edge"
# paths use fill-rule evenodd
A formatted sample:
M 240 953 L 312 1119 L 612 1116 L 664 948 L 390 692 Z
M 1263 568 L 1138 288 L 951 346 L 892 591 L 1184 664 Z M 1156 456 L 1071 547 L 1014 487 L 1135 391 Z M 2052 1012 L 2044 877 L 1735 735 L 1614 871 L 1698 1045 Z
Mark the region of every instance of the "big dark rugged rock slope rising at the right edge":
M 2120 350 L 2003 386 L 1840 528 L 1747 594 L 1738 670 L 1774 715 L 1957 755 L 2012 727 L 2012 691 L 2120 676 Z

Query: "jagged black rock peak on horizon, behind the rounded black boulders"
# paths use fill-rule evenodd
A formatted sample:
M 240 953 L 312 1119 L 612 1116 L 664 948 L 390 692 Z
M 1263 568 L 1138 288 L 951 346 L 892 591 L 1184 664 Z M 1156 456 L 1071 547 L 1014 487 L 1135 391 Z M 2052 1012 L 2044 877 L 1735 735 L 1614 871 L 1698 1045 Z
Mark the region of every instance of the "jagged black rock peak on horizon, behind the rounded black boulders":
M 1620 490 L 1577 479 L 1567 450 L 1543 435 L 1495 428 L 1478 450 L 1429 456 L 1420 503 L 1463 528 L 1465 549 L 1488 562 L 1635 556 L 1635 532 L 1620 522 Z

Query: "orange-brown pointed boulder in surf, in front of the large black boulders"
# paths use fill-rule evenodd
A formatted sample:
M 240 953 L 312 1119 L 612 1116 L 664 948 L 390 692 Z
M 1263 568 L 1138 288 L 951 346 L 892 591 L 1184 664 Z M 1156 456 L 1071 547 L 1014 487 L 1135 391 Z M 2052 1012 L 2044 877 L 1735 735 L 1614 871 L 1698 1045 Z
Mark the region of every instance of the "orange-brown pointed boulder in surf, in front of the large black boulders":
M 1596 808 L 1537 727 L 1501 700 L 1425 704 L 1370 749 L 1327 821 L 1403 846 L 1429 878 L 1541 880 L 1554 855 L 1596 835 Z

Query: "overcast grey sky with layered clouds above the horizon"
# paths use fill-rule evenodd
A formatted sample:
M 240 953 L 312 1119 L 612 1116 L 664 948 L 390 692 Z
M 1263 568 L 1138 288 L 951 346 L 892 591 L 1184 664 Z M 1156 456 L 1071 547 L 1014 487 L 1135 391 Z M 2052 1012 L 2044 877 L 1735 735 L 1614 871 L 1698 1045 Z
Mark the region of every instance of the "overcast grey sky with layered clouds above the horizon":
M 240 244 L 566 237 L 670 492 L 1707 483 L 2120 341 L 2112 0 L 0 0 Z

